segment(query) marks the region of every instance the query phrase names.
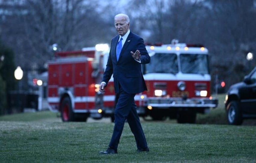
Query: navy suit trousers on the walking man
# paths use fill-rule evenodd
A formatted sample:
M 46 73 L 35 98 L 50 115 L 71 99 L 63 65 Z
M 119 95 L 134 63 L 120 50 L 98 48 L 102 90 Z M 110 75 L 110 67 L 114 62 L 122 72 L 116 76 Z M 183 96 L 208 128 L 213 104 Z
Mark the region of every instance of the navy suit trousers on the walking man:
M 123 132 L 124 123 L 127 122 L 135 137 L 136 145 L 138 149 L 147 148 L 147 142 L 140 124 L 139 116 L 136 111 L 136 104 L 134 96 L 136 94 L 129 94 L 119 87 L 119 98 L 114 112 L 114 131 L 109 143 L 109 147 L 117 150 L 120 137 Z

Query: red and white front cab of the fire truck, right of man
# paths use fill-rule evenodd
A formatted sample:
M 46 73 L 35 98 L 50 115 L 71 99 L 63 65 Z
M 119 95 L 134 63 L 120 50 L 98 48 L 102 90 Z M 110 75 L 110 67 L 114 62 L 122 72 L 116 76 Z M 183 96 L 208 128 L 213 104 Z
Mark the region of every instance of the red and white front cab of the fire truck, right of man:
M 178 123 L 195 123 L 197 113 L 218 105 L 210 93 L 209 54 L 203 45 L 172 41 L 147 45 L 151 61 L 142 66 L 148 91 L 145 115 L 153 120 L 176 118 Z

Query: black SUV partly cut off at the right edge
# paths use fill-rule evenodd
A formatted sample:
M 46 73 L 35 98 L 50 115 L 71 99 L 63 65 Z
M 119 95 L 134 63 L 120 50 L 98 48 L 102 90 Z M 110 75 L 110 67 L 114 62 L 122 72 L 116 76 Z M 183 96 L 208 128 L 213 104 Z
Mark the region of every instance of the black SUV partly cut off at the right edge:
M 240 125 L 245 118 L 256 118 L 256 67 L 243 82 L 230 86 L 224 103 L 229 124 Z

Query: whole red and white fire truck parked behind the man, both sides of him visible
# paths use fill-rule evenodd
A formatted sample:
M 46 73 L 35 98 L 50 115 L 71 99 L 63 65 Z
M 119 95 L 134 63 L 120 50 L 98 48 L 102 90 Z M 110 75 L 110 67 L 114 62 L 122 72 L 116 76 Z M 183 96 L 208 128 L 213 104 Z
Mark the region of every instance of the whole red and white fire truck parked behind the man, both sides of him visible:
M 61 112 L 63 121 L 86 120 L 88 116 L 111 117 L 114 121 L 113 78 L 104 94 L 98 90 L 109 51 L 98 50 L 97 46 L 97 50 L 58 52 L 49 62 L 48 102 L 52 111 Z M 139 116 L 195 123 L 197 113 L 217 107 L 218 99 L 210 94 L 209 54 L 205 47 L 174 41 L 146 48 L 151 62 L 142 65 L 148 91 L 135 96 Z

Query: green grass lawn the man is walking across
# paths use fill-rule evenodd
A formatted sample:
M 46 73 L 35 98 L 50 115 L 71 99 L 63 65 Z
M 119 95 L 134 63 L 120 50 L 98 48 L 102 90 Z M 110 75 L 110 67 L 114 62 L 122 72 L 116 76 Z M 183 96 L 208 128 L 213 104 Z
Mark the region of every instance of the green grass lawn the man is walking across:
M 117 155 L 98 154 L 110 141 L 110 120 L 63 123 L 50 111 L 0 116 L 0 162 L 255 163 L 256 126 L 226 125 L 219 102 L 210 114 L 199 115 L 197 124 L 142 121 L 150 152 L 136 152 L 125 124 Z

